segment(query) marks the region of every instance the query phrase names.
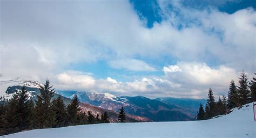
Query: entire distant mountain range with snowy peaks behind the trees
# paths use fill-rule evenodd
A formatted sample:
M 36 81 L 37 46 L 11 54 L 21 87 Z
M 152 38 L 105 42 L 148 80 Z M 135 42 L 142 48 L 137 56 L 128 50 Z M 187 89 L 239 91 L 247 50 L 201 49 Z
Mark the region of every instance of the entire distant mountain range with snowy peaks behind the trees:
M 10 99 L 16 89 L 20 90 L 22 85 L 29 91 L 29 97 L 33 100 L 39 93 L 41 83 L 35 80 L 24 80 L 20 78 L 0 81 L 0 85 L 11 84 L 6 88 L 5 95 L 0 97 Z M 7 85 L 8 85 L 7 84 Z M 205 104 L 205 99 L 185 98 L 156 98 L 149 99 L 143 96 L 117 96 L 110 93 L 98 93 L 87 91 L 60 91 L 57 90 L 53 98 L 60 95 L 67 105 L 73 95 L 77 95 L 81 101 L 82 111 L 92 111 L 93 114 L 102 114 L 107 111 L 111 121 L 117 121 L 119 109 L 123 106 L 130 122 L 140 121 L 189 121 L 195 120 L 195 115 L 200 103 Z

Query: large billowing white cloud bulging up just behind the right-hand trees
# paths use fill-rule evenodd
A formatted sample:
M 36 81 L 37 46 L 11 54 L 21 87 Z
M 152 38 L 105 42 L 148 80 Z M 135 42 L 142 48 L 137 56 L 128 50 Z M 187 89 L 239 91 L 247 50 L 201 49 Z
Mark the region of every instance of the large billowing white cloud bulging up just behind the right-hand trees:
M 225 66 L 211 68 L 206 63 L 178 62 L 176 65 L 182 71 L 169 71 L 170 67 L 164 67 L 165 77 L 169 81 L 181 84 L 183 91 L 190 91 L 188 95 L 207 96 L 207 89 L 212 88 L 217 95 L 226 95 L 231 80 L 237 80 L 238 71 Z M 197 91 L 197 92 L 196 92 Z M 199 92 L 200 95 L 199 95 Z

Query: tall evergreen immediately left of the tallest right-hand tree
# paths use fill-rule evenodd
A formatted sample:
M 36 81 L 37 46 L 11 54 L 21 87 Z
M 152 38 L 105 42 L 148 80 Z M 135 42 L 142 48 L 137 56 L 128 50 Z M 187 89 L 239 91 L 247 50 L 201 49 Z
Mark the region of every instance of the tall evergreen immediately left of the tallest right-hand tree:
M 227 93 L 227 106 L 228 108 L 234 108 L 238 105 L 238 91 L 237 86 L 235 86 L 234 80 L 230 83 L 230 89 Z

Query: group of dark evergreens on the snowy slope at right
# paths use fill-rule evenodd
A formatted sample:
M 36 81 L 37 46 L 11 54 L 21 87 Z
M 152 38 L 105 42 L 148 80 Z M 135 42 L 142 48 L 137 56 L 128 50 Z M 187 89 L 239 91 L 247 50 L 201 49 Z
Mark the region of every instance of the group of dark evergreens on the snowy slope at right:
M 256 100 L 256 78 L 253 77 L 251 82 L 248 82 L 247 75 L 244 70 L 238 78 L 238 86 L 234 80 L 231 81 L 227 98 L 219 97 L 217 101 L 213 96 L 213 91 L 208 90 L 208 99 L 205 108 L 200 104 L 197 113 L 197 120 L 211 119 L 217 115 L 226 114 L 234 107 L 240 107 L 244 104 L 251 103 Z

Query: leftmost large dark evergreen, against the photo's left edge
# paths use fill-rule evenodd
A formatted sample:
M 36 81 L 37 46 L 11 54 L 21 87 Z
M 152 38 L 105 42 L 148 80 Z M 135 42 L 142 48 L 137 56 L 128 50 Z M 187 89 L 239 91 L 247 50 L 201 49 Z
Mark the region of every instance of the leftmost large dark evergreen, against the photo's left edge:
M 18 96 L 14 95 L 9 101 L 6 106 L 6 110 L 2 115 L 2 130 L 3 134 L 10 134 L 19 132 L 19 115 L 17 108 L 18 104 Z

